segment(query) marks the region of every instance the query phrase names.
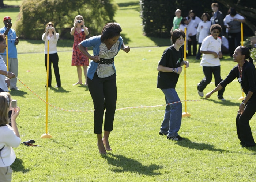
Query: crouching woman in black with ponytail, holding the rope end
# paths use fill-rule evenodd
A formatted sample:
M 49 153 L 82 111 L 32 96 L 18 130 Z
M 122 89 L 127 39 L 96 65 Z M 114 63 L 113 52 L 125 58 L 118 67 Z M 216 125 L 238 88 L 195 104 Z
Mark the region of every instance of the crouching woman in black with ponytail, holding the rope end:
M 246 60 L 248 58 L 249 61 Z M 206 94 L 205 98 L 210 98 L 214 92 L 226 87 L 234 79 L 238 79 L 246 97 L 240 104 L 236 117 L 237 135 L 242 147 L 252 147 L 255 146 L 255 142 L 249 121 L 256 112 L 256 69 L 247 47 L 238 46 L 233 54 L 233 59 L 238 64 L 214 90 Z

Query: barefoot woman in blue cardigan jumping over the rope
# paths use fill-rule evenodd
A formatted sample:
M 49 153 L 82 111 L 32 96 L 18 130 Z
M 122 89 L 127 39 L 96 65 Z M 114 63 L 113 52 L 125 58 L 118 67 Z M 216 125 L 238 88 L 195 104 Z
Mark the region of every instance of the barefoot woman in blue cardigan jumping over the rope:
M 112 150 L 109 145 L 109 134 L 113 130 L 116 111 L 116 68 L 114 57 L 122 49 L 128 53 L 129 46 L 125 46 L 120 36 L 122 29 L 118 23 L 107 23 L 99 36 L 93 36 L 78 44 L 78 48 L 92 61 L 87 70 L 88 88 L 94 105 L 94 133 L 97 134 L 99 153 L 106 154 Z M 86 51 L 86 47 L 93 47 L 93 56 Z M 104 110 L 104 136 L 102 125 Z M 104 146 L 105 145 L 105 146 Z

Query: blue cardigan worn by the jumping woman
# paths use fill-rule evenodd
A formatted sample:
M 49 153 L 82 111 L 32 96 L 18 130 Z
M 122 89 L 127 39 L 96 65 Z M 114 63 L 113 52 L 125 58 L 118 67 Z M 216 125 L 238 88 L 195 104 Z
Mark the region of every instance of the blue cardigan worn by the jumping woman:
M 118 52 L 119 52 L 121 49 L 121 46 L 123 45 L 123 39 L 120 36 L 118 40 L 119 40 Z M 81 42 L 81 45 L 83 47 L 93 47 L 93 55 L 97 56 L 97 55 L 99 55 L 99 45 L 101 43 L 102 43 L 101 35 L 97 35 L 97 36 L 90 37 L 89 39 L 83 40 Z M 98 67 L 98 63 L 91 60 L 89 66 L 88 66 L 88 69 L 87 69 L 87 77 L 90 78 L 91 80 L 93 79 L 93 76 L 94 76 L 95 71 L 97 70 L 97 67 Z M 114 63 L 113 63 L 113 68 L 116 72 Z

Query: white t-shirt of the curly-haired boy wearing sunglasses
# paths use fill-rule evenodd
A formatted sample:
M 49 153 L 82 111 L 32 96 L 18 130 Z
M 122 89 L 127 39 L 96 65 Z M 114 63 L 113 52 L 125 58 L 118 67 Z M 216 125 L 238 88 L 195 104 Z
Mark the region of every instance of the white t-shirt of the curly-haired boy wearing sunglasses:
M 221 51 L 221 38 L 214 39 L 212 35 L 207 36 L 201 45 L 200 51 L 212 51 L 217 54 Z M 213 54 L 203 54 L 200 66 L 220 66 L 219 58 L 214 58 Z

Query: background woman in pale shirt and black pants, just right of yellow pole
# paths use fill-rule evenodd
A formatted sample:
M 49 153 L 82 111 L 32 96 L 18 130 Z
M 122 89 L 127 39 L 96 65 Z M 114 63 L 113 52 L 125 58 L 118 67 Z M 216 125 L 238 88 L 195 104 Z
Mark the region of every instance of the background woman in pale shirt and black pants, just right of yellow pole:
M 201 22 L 201 19 L 195 15 L 193 10 L 190 10 L 187 16 L 188 19 L 188 56 L 196 56 L 197 52 L 197 26 Z M 193 55 L 191 53 L 191 46 L 193 46 Z

